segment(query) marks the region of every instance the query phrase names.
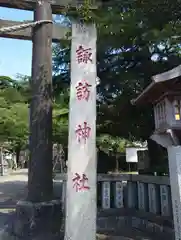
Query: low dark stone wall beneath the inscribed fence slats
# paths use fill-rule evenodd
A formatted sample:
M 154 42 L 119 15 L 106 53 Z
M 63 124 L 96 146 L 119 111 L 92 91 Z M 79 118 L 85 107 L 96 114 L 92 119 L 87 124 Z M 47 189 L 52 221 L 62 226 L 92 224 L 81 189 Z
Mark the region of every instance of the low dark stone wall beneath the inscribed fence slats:
M 64 232 L 64 221 L 62 234 Z M 98 210 L 97 233 L 121 236 L 123 229 L 137 229 L 155 240 L 174 240 L 172 220 L 134 209 Z M 135 236 L 136 237 L 136 236 Z

